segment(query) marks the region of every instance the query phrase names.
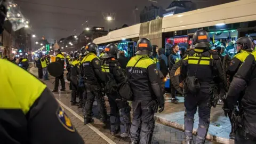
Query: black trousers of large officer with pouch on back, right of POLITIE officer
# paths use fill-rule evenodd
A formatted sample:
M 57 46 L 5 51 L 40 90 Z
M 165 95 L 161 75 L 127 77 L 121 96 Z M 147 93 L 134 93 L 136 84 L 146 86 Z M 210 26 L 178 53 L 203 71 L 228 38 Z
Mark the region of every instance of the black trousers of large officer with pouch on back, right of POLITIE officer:
M 211 113 L 211 93 L 210 89 L 201 89 L 197 95 L 185 94 L 185 135 L 192 138 L 194 116 L 198 107 L 199 124 L 197 129 L 196 142 L 204 143 L 210 124 Z

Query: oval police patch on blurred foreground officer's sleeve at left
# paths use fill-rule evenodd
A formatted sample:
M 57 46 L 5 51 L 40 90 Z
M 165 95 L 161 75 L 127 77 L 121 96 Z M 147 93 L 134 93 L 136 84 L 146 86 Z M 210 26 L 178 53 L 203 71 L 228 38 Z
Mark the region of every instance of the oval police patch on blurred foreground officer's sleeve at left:
M 59 122 L 70 132 L 75 132 L 75 127 L 71 123 L 68 115 L 65 113 L 64 109 L 59 106 L 59 108 L 56 111 L 57 118 L 59 119 Z

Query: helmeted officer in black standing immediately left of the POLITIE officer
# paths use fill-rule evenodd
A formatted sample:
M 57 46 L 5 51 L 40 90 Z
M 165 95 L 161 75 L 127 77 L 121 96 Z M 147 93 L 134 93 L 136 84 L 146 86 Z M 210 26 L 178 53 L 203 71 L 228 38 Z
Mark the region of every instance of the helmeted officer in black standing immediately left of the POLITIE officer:
M 108 44 L 105 48 L 105 54 L 101 58 L 103 60 L 101 70 L 106 74 L 105 92 L 108 95 L 110 105 L 111 135 L 117 134 L 120 129 L 121 137 L 128 137 L 131 126 L 131 107 L 126 100 L 122 100 L 122 98 L 119 97 L 116 91 L 117 84 L 126 81 L 117 60 L 119 58 L 118 47 L 115 44 Z

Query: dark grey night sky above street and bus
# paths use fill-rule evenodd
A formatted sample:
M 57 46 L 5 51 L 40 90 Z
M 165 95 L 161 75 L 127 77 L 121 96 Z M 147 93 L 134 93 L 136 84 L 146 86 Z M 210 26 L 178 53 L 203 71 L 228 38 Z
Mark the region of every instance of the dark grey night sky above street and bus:
M 60 39 L 69 35 L 78 35 L 87 25 L 89 27 L 101 26 L 106 30 L 109 28 L 121 27 L 124 23 L 134 24 L 135 6 L 138 7 L 137 23 L 139 12 L 144 6 L 151 4 L 162 6 L 166 9 L 172 1 L 154 0 L 17 0 L 16 2 L 23 15 L 30 20 L 31 29 L 37 37 L 42 35 L 49 39 Z M 197 9 L 203 7 L 227 3 L 232 0 L 197 0 Z M 234 0 L 233 0 L 234 1 Z M 102 11 L 116 13 L 114 21 L 103 20 Z M 84 23 L 82 26 L 82 23 Z M 75 30 L 76 29 L 76 30 Z M 75 30 L 75 31 L 74 31 Z

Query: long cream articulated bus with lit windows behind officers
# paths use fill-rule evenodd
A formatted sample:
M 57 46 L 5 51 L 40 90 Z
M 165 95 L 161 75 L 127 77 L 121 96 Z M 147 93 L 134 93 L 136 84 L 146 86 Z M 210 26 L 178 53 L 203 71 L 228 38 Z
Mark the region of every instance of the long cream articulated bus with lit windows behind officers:
M 101 49 L 114 43 L 119 50 L 125 51 L 126 57 L 131 58 L 135 54 L 138 39 L 146 37 L 153 45 L 163 47 L 168 56 L 174 43 L 185 51 L 192 43 L 195 31 L 204 29 L 209 32 L 212 45 L 221 42 L 228 46 L 242 36 L 256 39 L 255 7 L 256 0 L 206 7 L 110 31 L 108 35 L 95 38 L 93 42 Z

